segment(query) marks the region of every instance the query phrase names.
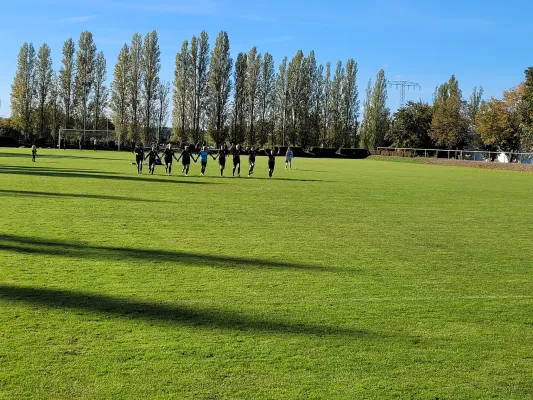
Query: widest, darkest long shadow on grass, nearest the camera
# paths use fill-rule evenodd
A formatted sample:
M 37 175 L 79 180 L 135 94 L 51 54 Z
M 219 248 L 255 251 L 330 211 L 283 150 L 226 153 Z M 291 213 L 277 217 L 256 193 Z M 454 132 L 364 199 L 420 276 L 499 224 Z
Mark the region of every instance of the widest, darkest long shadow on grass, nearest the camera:
M 319 336 L 343 335 L 359 338 L 372 338 L 376 336 L 374 333 L 363 330 L 262 319 L 252 315 L 243 315 L 242 312 L 231 310 L 156 304 L 147 301 L 61 289 L 0 284 L 0 299 L 52 309 L 83 310 L 99 314 L 111 314 L 126 320 L 142 319 L 200 328 Z

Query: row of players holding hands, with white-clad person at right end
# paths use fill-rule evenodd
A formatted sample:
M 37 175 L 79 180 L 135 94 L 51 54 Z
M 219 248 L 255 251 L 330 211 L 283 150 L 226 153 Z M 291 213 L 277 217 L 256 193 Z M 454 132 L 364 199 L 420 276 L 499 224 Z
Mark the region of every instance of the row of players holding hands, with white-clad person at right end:
M 207 159 L 209 156 L 211 156 L 213 160 L 216 160 L 218 158 L 218 165 L 220 166 L 220 176 L 224 176 L 224 170 L 226 168 L 226 157 L 229 157 L 231 155 L 233 158 L 232 175 L 235 176 L 235 171 L 237 171 L 237 176 L 241 176 L 242 149 L 239 144 L 232 145 L 229 150 L 227 146 L 223 145 L 220 147 L 220 149 L 218 149 L 216 155 L 210 154 L 206 146 L 202 146 L 200 150 L 196 152 L 191 150 L 192 147 L 193 146 L 185 146 L 183 149 L 181 149 L 181 152 L 179 152 L 179 157 L 176 158 L 176 152 L 172 149 L 172 146 L 169 143 L 162 152 L 163 160 L 161 160 L 159 151 L 156 146 L 152 146 L 152 148 L 146 155 L 144 153 L 144 149 L 141 146 L 135 146 L 133 152 L 135 154 L 135 164 L 137 165 L 137 173 L 142 174 L 143 162 L 145 160 L 148 160 L 148 171 L 150 174 L 153 175 L 155 171 L 155 166 L 157 165 L 157 162 L 159 160 L 161 163 L 164 162 L 166 174 L 170 176 L 172 173 L 172 161 L 174 159 L 176 160 L 176 162 L 179 162 L 181 160 L 182 173 L 184 173 L 185 176 L 189 176 L 191 160 L 196 163 L 199 159 L 200 164 L 202 166 L 200 176 L 204 176 L 205 170 L 207 168 Z M 196 148 L 198 147 L 196 146 Z M 268 177 L 272 178 L 272 175 L 274 174 L 274 167 L 276 166 L 276 155 L 279 155 L 279 151 L 276 154 L 274 149 L 255 149 L 254 147 L 250 147 L 248 149 L 248 163 L 250 167 L 248 170 L 248 177 L 252 176 L 252 174 L 254 173 L 255 159 L 259 153 L 265 153 L 268 156 Z M 196 158 L 194 157 L 195 154 L 197 155 Z M 292 169 L 293 158 L 294 153 L 289 147 L 285 155 L 286 169 Z

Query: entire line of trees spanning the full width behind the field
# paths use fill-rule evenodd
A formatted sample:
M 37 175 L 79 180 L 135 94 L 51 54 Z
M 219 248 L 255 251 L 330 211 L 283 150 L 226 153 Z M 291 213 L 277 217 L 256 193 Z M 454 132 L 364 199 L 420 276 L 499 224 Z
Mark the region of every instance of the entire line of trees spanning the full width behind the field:
M 53 137 L 60 128 L 105 129 L 121 140 L 160 141 L 172 112 L 175 141 L 302 147 L 379 146 L 444 149 L 531 149 L 533 67 L 501 100 L 484 101 L 483 89 L 463 98 L 455 76 L 436 88 L 433 102 L 409 102 L 391 114 L 387 79 L 369 80 L 360 120 L 357 63 L 318 64 L 314 51 L 297 51 L 277 67 L 256 47 L 234 60 L 226 32 L 210 48 L 202 31 L 185 40 L 175 57 L 173 82 L 159 77 L 156 31 L 124 44 L 106 85 L 107 62 L 90 32 L 77 46 L 65 41 L 60 68 L 51 50 L 24 43 L 11 91 L 12 117 L 1 122 L 28 141 Z

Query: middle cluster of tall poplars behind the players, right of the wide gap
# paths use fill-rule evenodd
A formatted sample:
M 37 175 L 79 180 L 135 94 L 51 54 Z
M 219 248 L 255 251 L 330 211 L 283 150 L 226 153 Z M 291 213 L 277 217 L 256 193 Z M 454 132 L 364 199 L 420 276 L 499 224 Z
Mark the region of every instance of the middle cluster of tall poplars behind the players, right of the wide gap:
M 359 100 L 357 64 L 318 65 L 315 53 L 285 57 L 276 72 L 256 47 L 230 55 L 226 32 L 210 51 L 203 31 L 176 55 L 172 127 L 186 142 L 354 146 Z

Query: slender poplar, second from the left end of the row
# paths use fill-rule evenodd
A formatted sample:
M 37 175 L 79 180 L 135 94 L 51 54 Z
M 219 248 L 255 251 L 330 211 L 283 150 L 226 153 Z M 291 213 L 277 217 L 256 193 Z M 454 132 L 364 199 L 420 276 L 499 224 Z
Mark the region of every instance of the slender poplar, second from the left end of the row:
M 46 104 L 52 85 L 52 56 L 50 47 L 44 43 L 37 54 L 35 62 L 35 86 L 38 112 L 38 132 L 41 137 L 46 134 Z

